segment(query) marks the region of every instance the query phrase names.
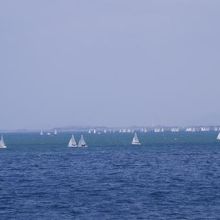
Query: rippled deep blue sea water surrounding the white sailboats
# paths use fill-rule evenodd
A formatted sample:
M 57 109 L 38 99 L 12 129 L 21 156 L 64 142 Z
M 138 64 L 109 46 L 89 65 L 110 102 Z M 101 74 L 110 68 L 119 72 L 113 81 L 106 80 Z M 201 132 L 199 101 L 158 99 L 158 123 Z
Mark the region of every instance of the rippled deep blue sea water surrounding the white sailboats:
M 216 135 L 85 134 L 69 149 L 70 134 L 6 134 L 0 219 L 220 219 Z

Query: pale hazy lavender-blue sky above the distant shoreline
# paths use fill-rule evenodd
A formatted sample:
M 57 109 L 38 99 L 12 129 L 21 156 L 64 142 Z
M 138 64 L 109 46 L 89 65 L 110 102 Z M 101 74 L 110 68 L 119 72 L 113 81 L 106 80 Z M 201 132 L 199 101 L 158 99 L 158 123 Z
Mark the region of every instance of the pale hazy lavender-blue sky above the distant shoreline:
M 219 0 L 1 0 L 0 129 L 220 124 Z

